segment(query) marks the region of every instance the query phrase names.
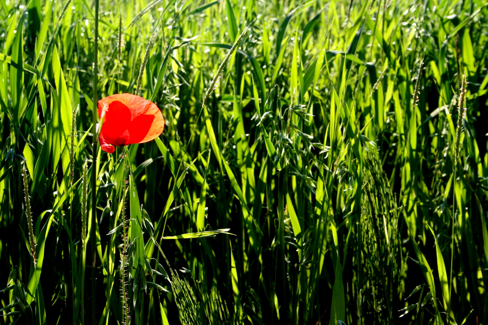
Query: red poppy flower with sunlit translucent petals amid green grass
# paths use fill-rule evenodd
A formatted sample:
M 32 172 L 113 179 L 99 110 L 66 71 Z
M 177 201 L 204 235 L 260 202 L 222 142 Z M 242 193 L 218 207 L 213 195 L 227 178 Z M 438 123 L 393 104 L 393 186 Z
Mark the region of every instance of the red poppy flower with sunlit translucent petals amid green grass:
M 107 153 L 115 147 L 151 141 L 164 129 L 164 118 L 153 102 L 132 94 L 117 94 L 98 102 L 103 121 L 100 146 Z

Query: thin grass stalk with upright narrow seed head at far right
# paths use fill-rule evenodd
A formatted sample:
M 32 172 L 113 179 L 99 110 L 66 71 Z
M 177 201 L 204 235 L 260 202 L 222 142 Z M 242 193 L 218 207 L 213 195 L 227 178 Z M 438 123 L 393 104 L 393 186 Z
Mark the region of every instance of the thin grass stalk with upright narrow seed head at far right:
M 452 264 L 454 261 L 454 208 L 456 206 L 456 166 L 457 160 L 459 158 L 459 147 L 461 144 L 461 130 L 463 127 L 463 117 L 466 114 L 466 108 L 464 103 L 466 101 L 466 75 L 463 75 L 461 82 L 461 89 L 459 90 L 459 102 L 458 102 L 458 122 L 456 130 L 456 143 L 454 146 L 454 164 L 453 164 L 453 175 L 452 175 L 452 233 L 451 233 L 451 267 L 449 274 L 449 304 L 447 306 L 447 318 L 449 318 L 449 313 L 451 309 L 451 298 L 452 298 Z

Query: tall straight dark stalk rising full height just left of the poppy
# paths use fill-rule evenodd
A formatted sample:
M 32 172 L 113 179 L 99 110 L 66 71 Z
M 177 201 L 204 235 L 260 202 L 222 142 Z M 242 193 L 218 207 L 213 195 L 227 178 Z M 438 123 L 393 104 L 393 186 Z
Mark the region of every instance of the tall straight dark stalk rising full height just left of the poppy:
M 95 0 L 95 38 L 93 44 L 93 124 L 98 120 L 97 104 L 98 104 L 98 11 L 99 0 Z M 91 289 L 92 289 L 92 324 L 96 325 L 97 320 L 97 277 L 95 272 L 97 255 L 96 255 L 96 235 L 95 227 L 97 221 L 97 150 L 98 150 L 98 134 L 99 130 L 95 128 L 93 131 L 92 142 L 92 220 L 91 220 L 91 253 L 92 253 L 92 269 L 91 269 Z

